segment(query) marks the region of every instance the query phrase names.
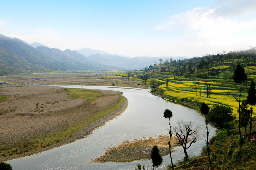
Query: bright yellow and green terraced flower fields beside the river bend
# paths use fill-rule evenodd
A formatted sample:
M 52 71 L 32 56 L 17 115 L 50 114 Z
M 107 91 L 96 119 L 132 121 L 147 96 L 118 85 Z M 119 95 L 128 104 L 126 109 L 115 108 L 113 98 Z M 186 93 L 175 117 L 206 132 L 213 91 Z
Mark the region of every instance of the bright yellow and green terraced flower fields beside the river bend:
M 168 85 L 166 85 L 166 81 L 158 81 L 164 83 L 158 89 L 166 98 L 189 103 L 196 108 L 199 108 L 202 102 L 205 102 L 209 107 L 218 103 L 229 105 L 233 109 L 233 114 L 238 116 L 237 109 L 239 102 L 236 99 L 239 99 L 239 90 L 236 88 L 225 87 L 222 82 L 176 81 L 173 80 L 173 77 L 168 78 Z M 150 80 L 147 82 L 149 83 Z M 207 86 L 210 86 L 210 97 L 207 97 Z M 245 100 L 247 93 L 241 93 L 241 95 L 241 101 Z M 256 111 L 255 108 L 253 110 Z

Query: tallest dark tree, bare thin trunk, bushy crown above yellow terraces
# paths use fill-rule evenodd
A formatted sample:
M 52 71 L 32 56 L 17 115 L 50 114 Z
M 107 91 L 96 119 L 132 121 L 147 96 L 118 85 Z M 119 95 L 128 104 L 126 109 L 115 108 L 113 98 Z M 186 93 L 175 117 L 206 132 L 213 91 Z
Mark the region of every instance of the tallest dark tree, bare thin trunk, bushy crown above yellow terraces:
M 233 80 L 235 83 L 239 84 L 239 112 L 238 112 L 238 129 L 239 129 L 239 135 L 240 138 L 241 135 L 241 129 L 240 129 L 240 118 L 241 118 L 241 110 L 240 110 L 240 102 L 241 102 L 241 83 L 244 82 L 247 79 L 247 75 L 245 74 L 245 69 L 241 67 L 240 64 L 236 66 L 236 70 L 234 71 Z

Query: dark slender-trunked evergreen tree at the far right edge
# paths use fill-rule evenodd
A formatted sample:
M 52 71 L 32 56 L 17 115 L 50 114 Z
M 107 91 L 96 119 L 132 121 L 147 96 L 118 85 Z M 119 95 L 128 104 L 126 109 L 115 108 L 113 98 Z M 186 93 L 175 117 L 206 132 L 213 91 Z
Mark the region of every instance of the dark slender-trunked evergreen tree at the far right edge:
M 250 132 L 249 132 L 249 140 L 251 140 L 251 128 L 252 128 L 252 105 L 256 104 L 256 90 L 255 83 L 251 81 L 250 88 L 247 95 L 247 102 L 251 105 L 251 116 L 250 116 Z

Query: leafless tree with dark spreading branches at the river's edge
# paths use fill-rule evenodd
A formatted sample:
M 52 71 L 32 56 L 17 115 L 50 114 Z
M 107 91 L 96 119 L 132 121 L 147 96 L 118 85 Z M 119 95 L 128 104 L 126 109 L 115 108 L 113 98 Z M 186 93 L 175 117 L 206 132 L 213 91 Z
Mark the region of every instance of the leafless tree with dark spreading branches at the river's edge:
M 174 135 L 178 138 L 178 144 L 183 147 L 185 161 L 187 161 L 187 149 L 191 146 L 191 144 L 194 144 L 202 139 L 198 135 L 200 126 L 194 122 L 183 122 L 183 120 L 178 121 L 177 125 L 178 126 L 173 128 Z

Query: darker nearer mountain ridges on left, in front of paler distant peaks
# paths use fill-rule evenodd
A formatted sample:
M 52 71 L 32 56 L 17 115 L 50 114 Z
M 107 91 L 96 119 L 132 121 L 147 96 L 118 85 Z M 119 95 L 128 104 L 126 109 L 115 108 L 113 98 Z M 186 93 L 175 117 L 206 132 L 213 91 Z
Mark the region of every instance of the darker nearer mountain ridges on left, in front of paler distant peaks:
M 0 35 L 0 75 L 32 73 L 35 71 L 77 71 L 114 69 L 89 61 L 76 51 L 37 47 L 17 38 Z

